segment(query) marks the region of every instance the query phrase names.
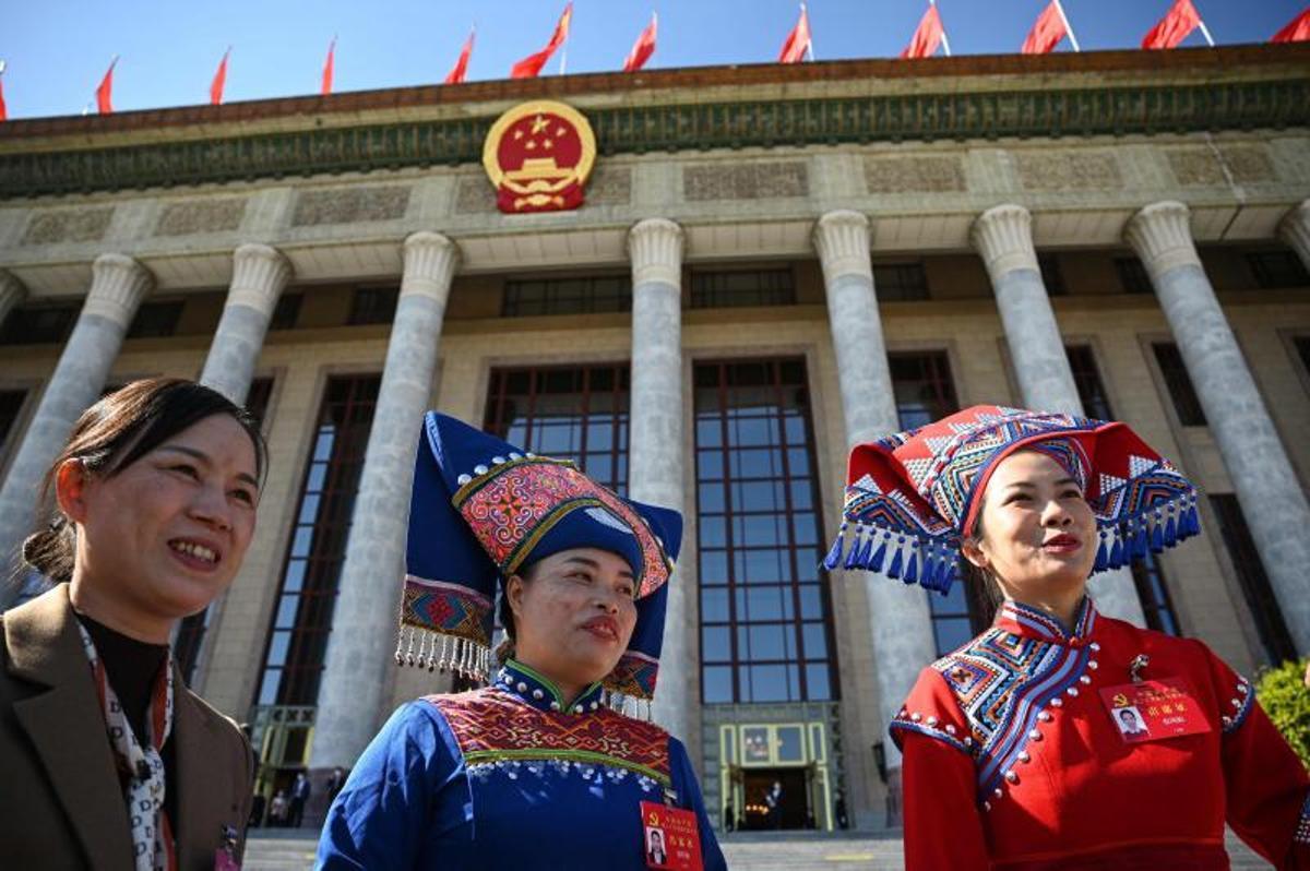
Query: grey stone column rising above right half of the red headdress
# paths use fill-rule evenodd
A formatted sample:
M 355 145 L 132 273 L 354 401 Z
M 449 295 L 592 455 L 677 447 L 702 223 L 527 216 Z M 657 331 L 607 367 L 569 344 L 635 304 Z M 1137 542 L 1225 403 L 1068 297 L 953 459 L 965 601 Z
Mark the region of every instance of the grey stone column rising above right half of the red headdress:
M 992 276 L 1023 405 L 1082 417 L 1078 385 L 1032 248 L 1032 215 L 1013 203 L 989 208 L 973 223 L 971 238 Z M 1146 625 L 1128 568 L 1096 575 L 1089 589 L 1102 613 Z

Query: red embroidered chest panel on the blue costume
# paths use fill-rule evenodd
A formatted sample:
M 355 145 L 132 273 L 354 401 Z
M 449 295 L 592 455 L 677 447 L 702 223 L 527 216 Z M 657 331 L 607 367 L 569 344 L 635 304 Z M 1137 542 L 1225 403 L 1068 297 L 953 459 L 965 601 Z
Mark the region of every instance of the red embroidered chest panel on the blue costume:
M 538 711 L 495 688 L 427 695 L 445 716 L 470 769 L 516 761 L 609 765 L 671 783 L 668 732 L 617 711 Z

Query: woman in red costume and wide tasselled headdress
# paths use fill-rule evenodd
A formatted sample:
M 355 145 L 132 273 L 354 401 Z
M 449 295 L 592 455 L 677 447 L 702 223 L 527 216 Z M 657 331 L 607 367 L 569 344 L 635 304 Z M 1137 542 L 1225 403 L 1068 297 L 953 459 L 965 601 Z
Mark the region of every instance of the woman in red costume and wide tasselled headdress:
M 975 406 L 854 448 L 828 567 L 945 592 L 963 554 L 1002 599 L 891 723 L 908 868 L 1227 868 L 1225 823 L 1310 868 L 1310 778 L 1246 678 L 1086 595 L 1199 532 L 1123 423 Z

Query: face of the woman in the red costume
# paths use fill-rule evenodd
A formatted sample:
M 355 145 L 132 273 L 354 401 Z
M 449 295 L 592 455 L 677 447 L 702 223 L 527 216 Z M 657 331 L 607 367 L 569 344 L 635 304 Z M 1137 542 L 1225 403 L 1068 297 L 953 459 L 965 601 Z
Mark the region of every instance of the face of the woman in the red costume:
M 1096 559 L 1096 520 L 1082 487 L 1048 454 L 1017 451 L 997 464 L 979 524 L 982 534 L 964 557 L 1011 599 L 1081 595 Z

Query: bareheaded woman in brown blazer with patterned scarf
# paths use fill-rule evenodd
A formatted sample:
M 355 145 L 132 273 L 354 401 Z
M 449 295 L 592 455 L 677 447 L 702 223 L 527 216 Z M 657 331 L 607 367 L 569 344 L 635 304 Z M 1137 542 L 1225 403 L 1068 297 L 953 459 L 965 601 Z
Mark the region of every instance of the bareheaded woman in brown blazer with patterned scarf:
M 24 545 L 58 583 L 0 616 L 4 867 L 240 862 L 250 748 L 169 639 L 236 576 L 262 466 L 250 415 L 190 381 L 136 381 L 75 424 L 46 475 L 55 521 Z

